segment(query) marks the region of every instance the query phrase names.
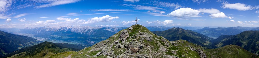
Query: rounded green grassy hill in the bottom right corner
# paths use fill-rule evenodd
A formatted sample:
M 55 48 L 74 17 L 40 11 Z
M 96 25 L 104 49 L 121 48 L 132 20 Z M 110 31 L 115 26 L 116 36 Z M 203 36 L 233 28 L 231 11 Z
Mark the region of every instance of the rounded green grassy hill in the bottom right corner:
M 232 44 L 217 49 L 208 49 L 207 51 L 217 58 L 258 58 L 255 54 Z

